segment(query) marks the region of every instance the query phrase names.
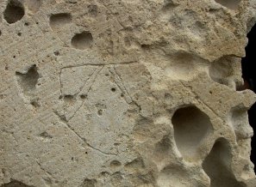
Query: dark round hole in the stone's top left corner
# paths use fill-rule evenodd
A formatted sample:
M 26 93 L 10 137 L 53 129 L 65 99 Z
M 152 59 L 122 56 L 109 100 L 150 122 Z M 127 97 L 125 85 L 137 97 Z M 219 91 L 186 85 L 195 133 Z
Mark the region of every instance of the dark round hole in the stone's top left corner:
M 18 0 L 10 0 L 3 12 L 3 18 L 9 24 L 22 20 L 25 10 L 21 2 Z

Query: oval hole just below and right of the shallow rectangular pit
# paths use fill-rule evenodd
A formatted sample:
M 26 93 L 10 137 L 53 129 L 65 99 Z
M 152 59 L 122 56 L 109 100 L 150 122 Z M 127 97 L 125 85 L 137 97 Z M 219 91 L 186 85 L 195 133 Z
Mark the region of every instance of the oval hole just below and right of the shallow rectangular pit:
M 72 46 L 79 50 L 90 48 L 93 43 L 93 38 L 90 32 L 77 33 L 72 38 Z

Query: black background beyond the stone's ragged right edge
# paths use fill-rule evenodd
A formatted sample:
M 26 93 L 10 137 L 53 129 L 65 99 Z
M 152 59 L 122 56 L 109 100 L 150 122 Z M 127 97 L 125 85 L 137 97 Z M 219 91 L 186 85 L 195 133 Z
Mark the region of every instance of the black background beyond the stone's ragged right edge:
M 246 57 L 243 57 L 241 60 L 242 67 L 242 77 L 245 81 L 242 89 L 251 89 L 256 93 L 256 25 L 253 26 L 251 31 L 247 34 L 248 45 L 246 47 Z M 248 111 L 249 124 L 253 127 L 253 131 L 256 131 L 256 103 Z M 256 165 L 256 136 L 252 138 L 252 151 L 251 151 L 251 160 L 253 164 Z M 254 172 L 256 168 L 254 167 Z

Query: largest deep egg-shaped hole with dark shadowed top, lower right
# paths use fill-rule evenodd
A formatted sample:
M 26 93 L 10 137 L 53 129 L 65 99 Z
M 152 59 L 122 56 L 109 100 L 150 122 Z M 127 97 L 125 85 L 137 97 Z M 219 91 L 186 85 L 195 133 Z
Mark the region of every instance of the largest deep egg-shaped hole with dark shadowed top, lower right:
M 212 130 L 209 117 L 196 106 L 178 109 L 173 117 L 174 138 L 184 159 L 197 157 L 197 148 Z

